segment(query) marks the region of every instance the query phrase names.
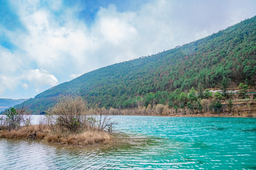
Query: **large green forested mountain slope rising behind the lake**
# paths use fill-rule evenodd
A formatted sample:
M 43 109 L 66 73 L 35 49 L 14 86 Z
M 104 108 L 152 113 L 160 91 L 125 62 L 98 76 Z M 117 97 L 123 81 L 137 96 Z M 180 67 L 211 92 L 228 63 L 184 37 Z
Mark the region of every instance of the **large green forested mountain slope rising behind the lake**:
M 61 94 L 82 95 L 101 107 L 124 108 L 148 93 L 179 88 L 256 85 L 256 16 L 174 49 L 100 68 L 57 85 L 25 102 L 33 113 L 53 106 Z M 168 101 L 167 101 L 168 102 Z

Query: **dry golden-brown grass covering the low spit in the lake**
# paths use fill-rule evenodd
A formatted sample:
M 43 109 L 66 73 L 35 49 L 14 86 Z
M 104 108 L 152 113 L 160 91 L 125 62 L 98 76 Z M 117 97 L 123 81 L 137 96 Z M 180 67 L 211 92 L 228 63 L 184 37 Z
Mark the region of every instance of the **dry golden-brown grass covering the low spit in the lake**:
M 112 139 L 110 134 L 105 131 L 85 131 L 79 134 L 71 133 L 53 133 L 50 130 L 49 126 L 46 126 L 44 129 L 38 125 L 30 125 L 29 127 L 20 127 L 19 129 L 8 131 L 0 130 L 0 137 L 6 138 L 27 138 L 29 135 L 34 134 L 37 130 L 37 136 L 35 139 L 44 140 L 49 143 L 57 144 L 68 144 L 68 145 L 88 145 L 88 144 L 110 144 Z

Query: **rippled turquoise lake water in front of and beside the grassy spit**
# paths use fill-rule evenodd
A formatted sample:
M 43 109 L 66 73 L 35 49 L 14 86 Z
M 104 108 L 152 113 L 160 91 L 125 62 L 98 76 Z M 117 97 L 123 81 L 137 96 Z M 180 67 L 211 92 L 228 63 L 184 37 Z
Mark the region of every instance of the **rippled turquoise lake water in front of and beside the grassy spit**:
M 115 116 L 129 144 L 65 149 L 0 138 L 0 169 L 256 170 L 256 119 Z

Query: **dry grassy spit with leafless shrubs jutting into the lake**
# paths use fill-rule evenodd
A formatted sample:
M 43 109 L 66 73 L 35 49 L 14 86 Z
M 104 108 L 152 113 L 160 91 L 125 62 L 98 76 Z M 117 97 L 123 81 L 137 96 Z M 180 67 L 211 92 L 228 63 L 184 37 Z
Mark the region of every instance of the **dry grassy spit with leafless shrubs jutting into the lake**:
M 111 129 L 107 128 L 111 118 L 102 114 L 89 116 L 88 111 L 87 103 L 81 97 L 63 96 L 39 119 L 38 125 L 30 125 L 31 117 L 25 108 L 22 111 L 11 108 L 0 118 L 0 137 L 72 145 L 111 143 Z

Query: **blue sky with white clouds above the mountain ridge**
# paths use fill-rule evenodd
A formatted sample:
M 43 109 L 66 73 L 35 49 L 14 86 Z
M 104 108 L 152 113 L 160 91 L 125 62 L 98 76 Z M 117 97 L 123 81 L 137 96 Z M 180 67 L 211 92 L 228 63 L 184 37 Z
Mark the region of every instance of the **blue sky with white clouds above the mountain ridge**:
M 256 0 L 0 0 L 0 98 L 33 98 L 256 15 Z

